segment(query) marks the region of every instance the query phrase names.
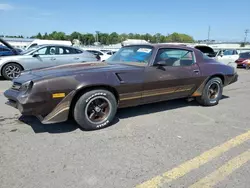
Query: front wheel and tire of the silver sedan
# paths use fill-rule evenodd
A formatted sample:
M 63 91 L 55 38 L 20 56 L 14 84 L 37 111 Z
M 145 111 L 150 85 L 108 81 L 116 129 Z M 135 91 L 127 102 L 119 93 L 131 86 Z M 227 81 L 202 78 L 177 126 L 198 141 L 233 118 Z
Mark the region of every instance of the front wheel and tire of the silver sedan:
M 9 71 L 13 70 L 13 74 L 8 74 Z M 18 77 L 21 74 L 21 71 L 23 70 L 23 68 L 17 64 L 17 63 L 8 63 L 6 65 L 4 65 L 3 69 L 2 69 L 2 76 L 6 79 L 6 80 L 12 80 L 16 77 Z

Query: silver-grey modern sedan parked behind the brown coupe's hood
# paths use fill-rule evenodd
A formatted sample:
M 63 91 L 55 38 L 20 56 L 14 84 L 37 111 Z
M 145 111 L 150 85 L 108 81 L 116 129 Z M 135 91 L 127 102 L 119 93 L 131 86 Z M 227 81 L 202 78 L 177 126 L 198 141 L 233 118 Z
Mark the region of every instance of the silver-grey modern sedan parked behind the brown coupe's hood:
M 65 65 L 69 63 L 92 62 L 97 58 L 92 53 L 65 45 L 40 45 L 20 55 L 0 58 L 0 76 L 12 80 L 23 70 Z

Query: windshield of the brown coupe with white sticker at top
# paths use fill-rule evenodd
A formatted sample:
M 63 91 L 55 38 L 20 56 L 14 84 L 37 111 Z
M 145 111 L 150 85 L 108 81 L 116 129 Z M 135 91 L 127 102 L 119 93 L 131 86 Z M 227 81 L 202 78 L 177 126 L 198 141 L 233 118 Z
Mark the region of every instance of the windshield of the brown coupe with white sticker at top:
M 108 63 L 148 63 L 152 56 L 153 47 L 135 45 L 122 47 L 118 52 L 108 58 L 106 61 Z

